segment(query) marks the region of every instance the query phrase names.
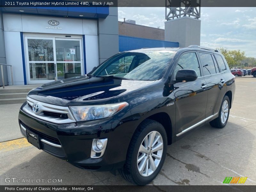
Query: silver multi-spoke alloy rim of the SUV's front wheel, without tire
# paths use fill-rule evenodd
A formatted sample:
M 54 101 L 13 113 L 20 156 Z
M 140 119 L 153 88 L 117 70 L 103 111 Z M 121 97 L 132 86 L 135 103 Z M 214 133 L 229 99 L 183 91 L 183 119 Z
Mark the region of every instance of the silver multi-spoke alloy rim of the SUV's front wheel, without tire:
M 140 175 L 148 177 L 156 171 L 163 154 L 163 138 L 157 131 L 152 131 L 140 144 L 137 168 Z

